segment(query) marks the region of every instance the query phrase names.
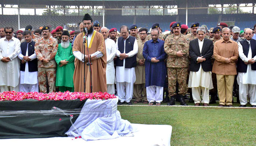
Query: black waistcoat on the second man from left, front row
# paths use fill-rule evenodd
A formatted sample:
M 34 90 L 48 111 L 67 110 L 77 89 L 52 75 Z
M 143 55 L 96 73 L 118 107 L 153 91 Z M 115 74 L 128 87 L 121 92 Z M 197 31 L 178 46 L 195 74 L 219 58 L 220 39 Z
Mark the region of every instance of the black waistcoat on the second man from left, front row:
M 26 56 L 26 51 L 28 47 L 28 56 L 34 54 L 35 52 L 35 42 L 32 41 L 29 43 L 29 46 L 27 46 L 27 42 L 22 42 L 20 44 L 21 54 L 23 56 Z M 25 71 L 26 64 L 20 64 L 20 70 Z M 29 61 L 29 72 L 37 72 L 37 58 L 35 58 L 32 61 Z

